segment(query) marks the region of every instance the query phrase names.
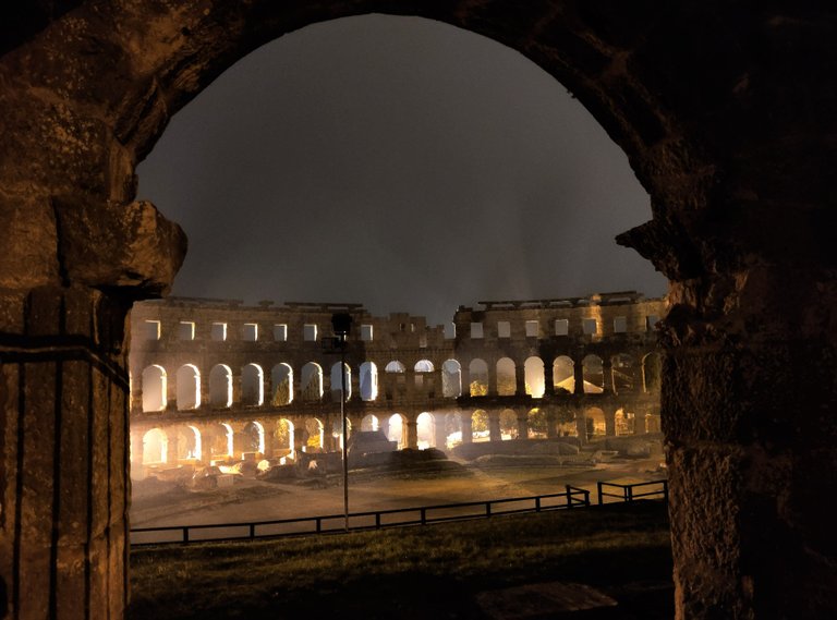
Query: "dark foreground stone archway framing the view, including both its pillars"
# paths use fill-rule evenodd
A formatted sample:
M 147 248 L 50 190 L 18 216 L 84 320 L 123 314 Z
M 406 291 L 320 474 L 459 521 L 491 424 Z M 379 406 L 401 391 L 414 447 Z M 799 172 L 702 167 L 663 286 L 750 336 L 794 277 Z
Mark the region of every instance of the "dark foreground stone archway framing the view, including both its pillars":
M 820 510 L 837 490 L 833 11 L 720 0 L 13 7 L 0 24 L 0 585 L 13 615 L 119 617 L 125 606 L 125 314 L 165 294 L 185 251 L 177 226 L 134 202 L 135 165 L 247 51 L 373 10 L 521 51 L 585 105 L 651 194 L 653 221 L 619 242 L 671 281 L 662 411 L 678 615 L 835 611 Z

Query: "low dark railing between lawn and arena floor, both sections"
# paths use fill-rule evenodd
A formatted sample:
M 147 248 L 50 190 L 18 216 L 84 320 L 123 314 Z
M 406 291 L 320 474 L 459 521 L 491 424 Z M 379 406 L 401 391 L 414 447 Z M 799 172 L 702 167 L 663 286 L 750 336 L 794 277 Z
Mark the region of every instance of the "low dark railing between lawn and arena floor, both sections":
M 598 483 L 598 503 L 604 497 L 619 497 L 623 501 L 653 497 L 660 491 L 634 493 L 632 487 L 663 484 L 666 489 L 663 497 L 668 499 L 665 481 L 640 483 L 634 485 L 616 485 Z M 603 485 L 617 486 L 623 489 L 621 495 L 608 494 Z M 629 488 L 630 487 L 630 488 Z M 628 489 L 628 490 L 626 490 Z M 399 508 L 391 510 L 374 510 L 352 512 L 349 518 L 344 514 L 327 514 L 319 516 L 303 516 L 295 519 L 278 519 L 272 521 L 255 521 L 250 523 L 215 523 L 203 525 L 162 525 L 156 527 L 135 527 L 131 530 L 131 545 L 161 545 L 171 543 L 197 543 L 235 539 L 254 539 L 260 537 L 300 536 L 311 534 L 339 533 L 360 530 L 379 530 L 383 527 L 399 527 L 408 525 L 426 525 L 445 521 L 462 521 L 468 519 L 487 519 L 500 514 L 523 512 L 543 512 L 548 510 L 568 510 L 591 506 L 590 491 L 583 488 L 566 485 L 562 493 L 537 495 L 531 497 L 513 497 L 485 501 L 466 501 L 461 503 L 445 503 L 438 506 L 422 506 L 418 508 Z

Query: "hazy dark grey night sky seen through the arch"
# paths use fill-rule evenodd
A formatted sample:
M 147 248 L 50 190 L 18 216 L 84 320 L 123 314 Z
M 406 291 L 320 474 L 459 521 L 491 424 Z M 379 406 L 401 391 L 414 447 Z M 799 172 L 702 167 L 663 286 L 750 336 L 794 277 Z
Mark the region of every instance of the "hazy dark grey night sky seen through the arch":
M 173 293 L 363 303 L 432 323 L 480 300 L 666 281 L 614 236 L 651 219 L 566 88 L 490 39 L 369 15 L 262 47 L 179 112 L 138 197 L 180 223 Z

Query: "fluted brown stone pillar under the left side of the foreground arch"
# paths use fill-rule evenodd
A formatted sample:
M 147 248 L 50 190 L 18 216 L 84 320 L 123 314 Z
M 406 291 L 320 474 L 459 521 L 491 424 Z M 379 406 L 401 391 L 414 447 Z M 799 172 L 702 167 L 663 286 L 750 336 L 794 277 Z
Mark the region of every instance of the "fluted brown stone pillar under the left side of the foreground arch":
M 0 295 L 0 580 L 12 618 L 125 608 L 126 312 L 84 288 Z

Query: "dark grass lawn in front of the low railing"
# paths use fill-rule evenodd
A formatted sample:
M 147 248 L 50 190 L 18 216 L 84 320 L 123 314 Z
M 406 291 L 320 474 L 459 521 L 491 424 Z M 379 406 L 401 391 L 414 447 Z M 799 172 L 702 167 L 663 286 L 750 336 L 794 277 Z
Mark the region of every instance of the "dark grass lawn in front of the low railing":
M 671 618 L 662 502 L 376 532 L 194 544 L 131 552 L 132 620 L 486 618 L 478 592 L 583 583 L 607 616 Z

